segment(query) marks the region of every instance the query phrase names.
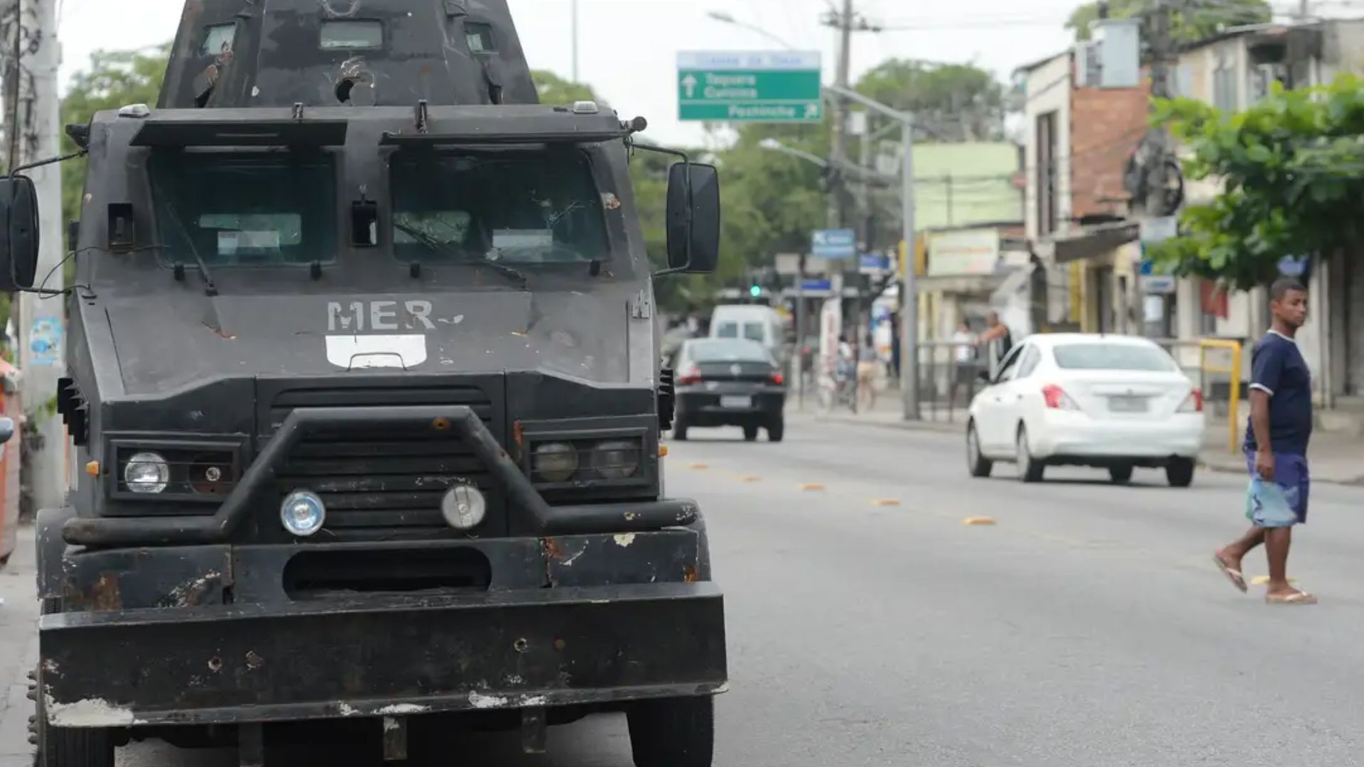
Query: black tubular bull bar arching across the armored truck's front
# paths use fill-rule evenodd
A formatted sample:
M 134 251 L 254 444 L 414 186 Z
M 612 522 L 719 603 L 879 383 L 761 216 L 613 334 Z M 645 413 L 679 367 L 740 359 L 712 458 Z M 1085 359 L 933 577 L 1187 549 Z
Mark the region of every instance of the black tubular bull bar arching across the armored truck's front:
M 451 431 L 473 450 L 507 491 L 509 510 L 527 515 L 531 530 L 543 535 L 645 532 L 685 527 L 696 521 L 690 501 L 657 501 L 599 506 L 555 506 L 544 501 L 531 479 L 512 460 L 496 437 L 465 405 L 404 405 L 297 408 L 261 449 L 226 500 L 211 516 L 75 517 L 63 527 L 67 543 L 83 546 L 175 546 L 225 542 L 250 515 L 276 469 L 307 435 L 327 427 L 374 426 Z

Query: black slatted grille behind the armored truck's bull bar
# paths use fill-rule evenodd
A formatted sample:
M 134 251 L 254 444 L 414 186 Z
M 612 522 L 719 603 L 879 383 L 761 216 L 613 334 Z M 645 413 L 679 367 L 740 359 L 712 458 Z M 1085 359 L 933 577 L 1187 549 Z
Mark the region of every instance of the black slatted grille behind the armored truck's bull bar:
M 295 408 L 364 405 L 469 405 L 494 435 L 494 405 L 476 386 L 291 389 L 270 407 L 270 433 Z M 502 508 L 501 487 L 453 433 L 411 429 L 326 429 L 310 435 L 277 472 L 277 490 L 307 489 L 327 506 L 327 528 L 447 528 L 441 498 L 456 483 L 475 483 L 488 498 L 488 519 Z

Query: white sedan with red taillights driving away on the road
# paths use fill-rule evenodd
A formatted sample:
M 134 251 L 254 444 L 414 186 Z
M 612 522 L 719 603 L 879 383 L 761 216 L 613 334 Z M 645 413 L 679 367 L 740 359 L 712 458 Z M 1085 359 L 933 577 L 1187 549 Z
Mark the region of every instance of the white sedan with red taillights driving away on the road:
M 1174 359 L 1132 336 L 1039 334 L 1015 347 L 971 401 L 966 434 L 973 476 L 994 461 L 1041 482 L 1049 465 L 1163 468 L 1188 487 L 1203 444 L 1203 393 Z

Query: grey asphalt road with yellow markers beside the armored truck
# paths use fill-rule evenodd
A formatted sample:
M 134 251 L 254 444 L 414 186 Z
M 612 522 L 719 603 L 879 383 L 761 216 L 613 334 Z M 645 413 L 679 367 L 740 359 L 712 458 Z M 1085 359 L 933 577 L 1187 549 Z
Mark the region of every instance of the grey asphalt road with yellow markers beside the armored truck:
M 1234 475 L 975 480 L 956 435 L 807 420 L 780 445 L 698 430 L 667 463 L 727 592 L 719 767 L 1364 763 L 1364 489 L 1314 487 L 1290 575 L 1322 603 L 1271 607 L 1211 565 L 1244 527 Z M 0 575 L 0 767 L 26 764 L 26 561 Z M 621 718 L 550 747 L 488 737 L 447 764 L 630 764 Z M 120 764 L 235 762 L 143 744 Z

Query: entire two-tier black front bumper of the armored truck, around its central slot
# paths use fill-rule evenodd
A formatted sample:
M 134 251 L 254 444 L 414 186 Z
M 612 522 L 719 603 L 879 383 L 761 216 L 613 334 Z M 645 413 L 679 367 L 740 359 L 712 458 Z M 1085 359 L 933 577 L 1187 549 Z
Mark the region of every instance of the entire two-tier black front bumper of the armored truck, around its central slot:
M 308 595 L 286 583 L 299 557 L 457 549 L 491 562 L 486 588 Z M 38 624 L 45 710 L 56 726 L 130 727 L 709 695 L 727 669 L 707 565 L 689 530 L 71 554 L 70 611 Z

